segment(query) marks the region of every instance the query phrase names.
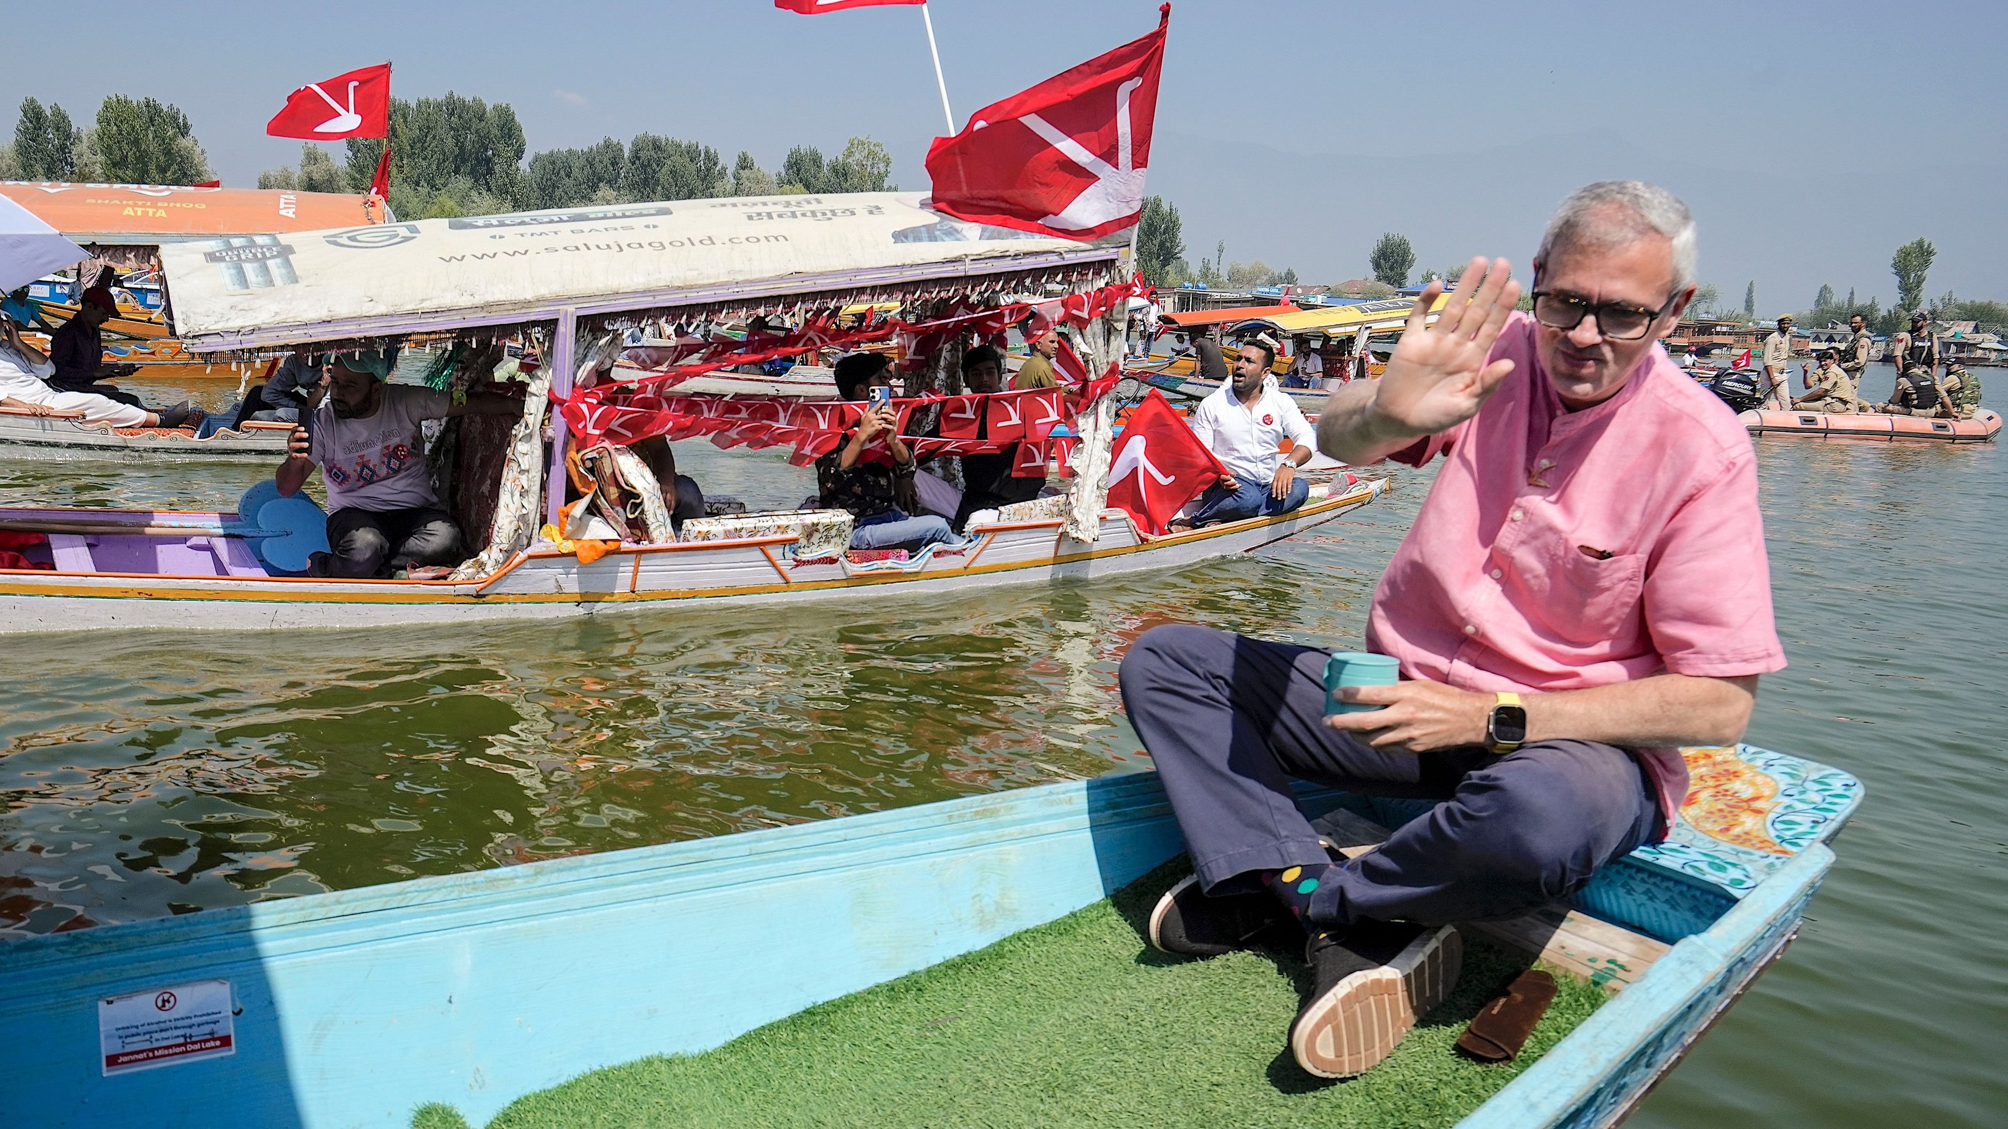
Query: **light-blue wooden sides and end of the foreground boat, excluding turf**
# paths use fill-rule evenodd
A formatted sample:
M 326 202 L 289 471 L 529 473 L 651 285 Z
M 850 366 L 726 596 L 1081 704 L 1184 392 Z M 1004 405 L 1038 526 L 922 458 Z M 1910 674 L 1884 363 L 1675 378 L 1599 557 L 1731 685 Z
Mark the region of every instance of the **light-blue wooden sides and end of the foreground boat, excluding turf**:
M 1751 746 L 1687 756 L 1669 842 L 1488 930 L 1612 999 L 1464 1129 L 1614 1125 L 1797 934 L 1861 784 Z M 1414 810 L 1301 798 L 1341 802 Z M 0 947 L 10 1101 L 66 1129 L 404 1127 L 422 1103 L 480 1125 L 1054 920 L 1181 848 L 1141 772 L 32 936 Z M 179 1035 L 116 1029 L 185 999 L 215 1003 Z

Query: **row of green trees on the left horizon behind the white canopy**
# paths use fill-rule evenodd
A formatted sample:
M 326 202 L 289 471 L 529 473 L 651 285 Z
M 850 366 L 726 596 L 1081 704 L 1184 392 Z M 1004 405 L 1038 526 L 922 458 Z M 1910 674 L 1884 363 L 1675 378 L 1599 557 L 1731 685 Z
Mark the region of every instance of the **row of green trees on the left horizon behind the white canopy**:
M 829 158 L 813 144 L 795 146 L 775 170 L 761 168 L 747 150 L 727 164 L 709 144 L 649 132 L 629 142 L 608 136 L 584 148 L 548 148 L 526 162 L 516 110 L 456 92 L 392 98 L 390 146 L 390 205 L 402 219 L 896 186 L 888 182 L 892 154 L 867 136 L 849 138 Z M 257 182 L 365 193 L 382 152 L 382 138 L 351 138 L 337 162 L 327 148 L 305 142 L 299 164 L 267 168 Z M 201 184 L 215 174 L 181 108 L 112 94 L 86 126 L 54 102 L 24 98 L 14 142 L 0 144 L 0 178 Z

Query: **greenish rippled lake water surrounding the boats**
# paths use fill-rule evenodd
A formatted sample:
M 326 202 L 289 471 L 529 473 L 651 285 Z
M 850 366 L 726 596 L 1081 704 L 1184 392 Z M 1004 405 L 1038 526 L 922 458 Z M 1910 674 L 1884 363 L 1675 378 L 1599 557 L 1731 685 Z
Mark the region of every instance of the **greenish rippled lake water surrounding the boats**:
M 809 489 L 685 447 L 751 505 Z M 1791 668 L 1749 740 L 1867 804 L 1799 943 L 1633 1125 L 2008 1123 L 2008 459 L 1757 451 Z M 263 473 L 0 459 L 0 503 L 229 507 Z M 1114 690 L 1139 632 L 1355 642 L 1426 489 L 1404 471 L 1269 557 L 980 598 L 8 638 L 0 936 L 1139 770 Z

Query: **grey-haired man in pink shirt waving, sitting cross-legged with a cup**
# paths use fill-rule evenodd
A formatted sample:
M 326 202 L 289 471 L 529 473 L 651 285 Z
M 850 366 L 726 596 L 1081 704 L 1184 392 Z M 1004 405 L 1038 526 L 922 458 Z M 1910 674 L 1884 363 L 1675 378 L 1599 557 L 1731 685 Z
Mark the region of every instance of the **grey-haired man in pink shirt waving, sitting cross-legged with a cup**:
M 1424 291 L 1379 381 L 1331 393 L 1327 455 L 1444 457 L 1367 616 L 1404 680 L 1339 692 L 1377 710 L 1325 716 L 1317 648 L 1165 626 L 1122 662 L 1195 868 L 1151 940 L 1209 957 L 1299 922 L 1313 991 L 1289 1043 L 1313 1075 L 1365 1071 L 1450 995 L 1452 922 L 1665 838 L 1675 746 L 1739 740 L 1785 666 L 1749 437 L 1659 345 L 1693 275 L 1679 199 L 1590 184 L 1548 223 L 1532 317 L 1510 267 L 1474 259 L 1434 325 Z M 1438 804 L 1343 862 L 1291 780 Z

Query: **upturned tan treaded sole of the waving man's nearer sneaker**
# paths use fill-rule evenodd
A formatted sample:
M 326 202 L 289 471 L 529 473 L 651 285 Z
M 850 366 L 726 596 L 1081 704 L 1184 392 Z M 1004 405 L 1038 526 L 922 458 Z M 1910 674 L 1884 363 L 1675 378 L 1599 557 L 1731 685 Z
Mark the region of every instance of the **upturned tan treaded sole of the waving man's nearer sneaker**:
M 1464 938 L 1456 928 L 1424 932 L 1388 965 L 1345 977 L 1307 1007 L 1289 1031 L 1289 1051 L 1321 1079 L 1363 1075 L 1450 999 L 1462 969 Z

